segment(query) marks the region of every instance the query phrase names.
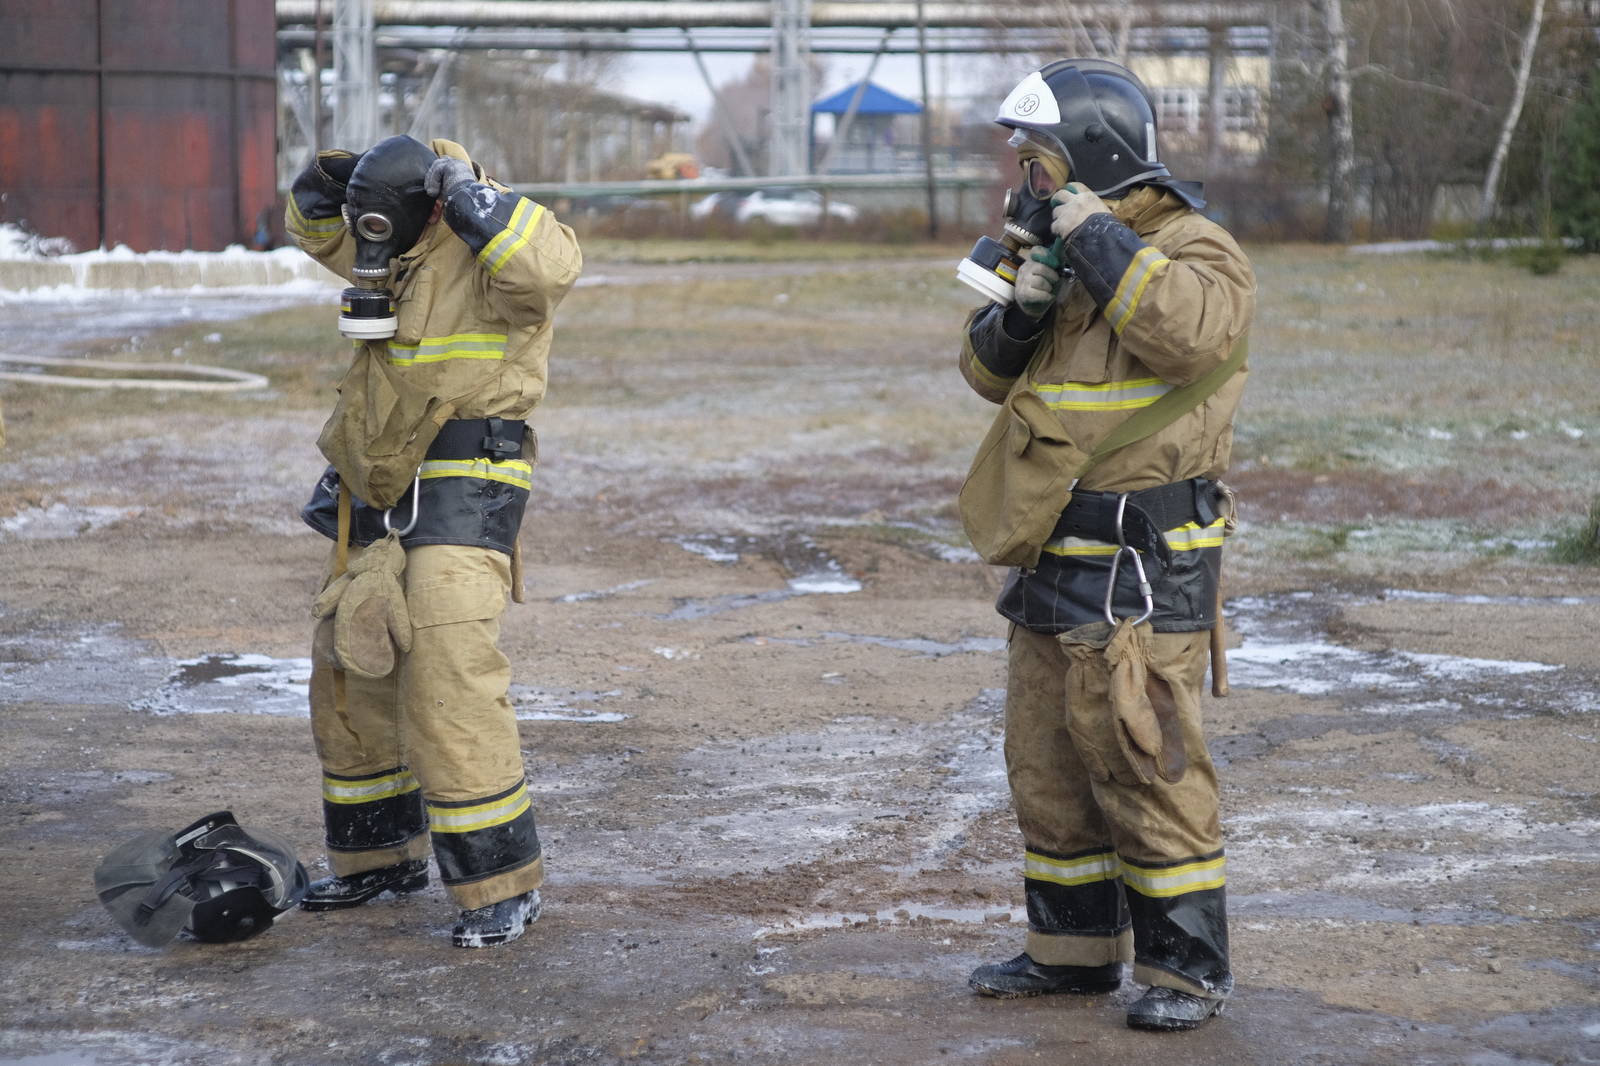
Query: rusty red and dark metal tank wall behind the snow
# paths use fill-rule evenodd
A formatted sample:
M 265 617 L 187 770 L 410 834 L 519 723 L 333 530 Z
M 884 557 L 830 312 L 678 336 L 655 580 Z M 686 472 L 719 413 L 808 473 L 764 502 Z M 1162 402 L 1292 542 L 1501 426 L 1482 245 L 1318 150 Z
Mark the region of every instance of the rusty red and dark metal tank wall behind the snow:
M 0 222 L 248 245 L 275 197 L 275 29 L 274 0 L 0 0 Z

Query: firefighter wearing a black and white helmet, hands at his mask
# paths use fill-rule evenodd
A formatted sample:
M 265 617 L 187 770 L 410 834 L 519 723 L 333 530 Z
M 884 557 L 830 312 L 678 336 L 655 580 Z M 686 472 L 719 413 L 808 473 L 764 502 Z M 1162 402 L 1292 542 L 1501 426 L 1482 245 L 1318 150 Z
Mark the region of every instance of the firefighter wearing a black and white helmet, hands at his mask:
M 1008 232 L 1038 246 L 1014 299 L 966 322 L 962 373 L 1003 410 L 962 514 L 1014 567 L 997 608 L 1029 932 L 971 986 L 1107 992 L 1131 960 L 1150 988 L 1128 1024 L 1192 1029 L 1234 983 L 1200 688 L 1254 279 L 1158 162 L 1126 69 L 1051 62 L 997 122 L 1024 171 Z

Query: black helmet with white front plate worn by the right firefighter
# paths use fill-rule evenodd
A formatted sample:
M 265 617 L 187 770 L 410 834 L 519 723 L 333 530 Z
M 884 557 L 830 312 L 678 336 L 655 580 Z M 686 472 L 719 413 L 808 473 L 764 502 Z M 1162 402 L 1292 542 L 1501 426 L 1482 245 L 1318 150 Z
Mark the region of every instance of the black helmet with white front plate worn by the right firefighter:
M 1155 104 L 1144 82 L 1107 59 L 1056 59 L 1029 74 L 995 122 L 1043 138 L 1096 195 L 1166 184 L 1155 150 Z M 1165 181 L 1163 181 L 1165 179 Z

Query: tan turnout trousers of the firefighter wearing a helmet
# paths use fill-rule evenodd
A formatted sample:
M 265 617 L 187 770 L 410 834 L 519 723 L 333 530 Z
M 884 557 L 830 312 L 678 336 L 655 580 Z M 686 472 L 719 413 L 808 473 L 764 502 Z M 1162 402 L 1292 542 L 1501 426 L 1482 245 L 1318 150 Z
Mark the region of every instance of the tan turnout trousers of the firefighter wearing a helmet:
M 1011 627 L 1005 759 L 1035 962 L 1131 960 L 1146 984 L 1211 999 L 1232 989 L 1216 770 L 1200 730 L 1208 639 L 1152 635 L 1149 669 L 1171 685 L 1189 765 L 1178 783 L 1125 784 L 1096 779 L 1075 749 L 1061 643 Z

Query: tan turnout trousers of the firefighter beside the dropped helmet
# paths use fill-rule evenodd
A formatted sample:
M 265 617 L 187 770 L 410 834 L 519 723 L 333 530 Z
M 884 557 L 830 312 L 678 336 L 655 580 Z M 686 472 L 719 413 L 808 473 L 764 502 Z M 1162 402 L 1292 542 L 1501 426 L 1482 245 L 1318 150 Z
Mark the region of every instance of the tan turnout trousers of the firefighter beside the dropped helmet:
M 406 551 L 403 586 L 413 643 L 387 677 L 333 666 L 331 618 L 312 639 L 328 863 L 360 874 L 426 858 L 432 842 L 456 904 L 488 906 L 544 880 L 510 663 L 498 647 L 510 557 L 424 544 Z

